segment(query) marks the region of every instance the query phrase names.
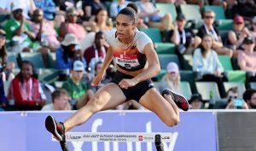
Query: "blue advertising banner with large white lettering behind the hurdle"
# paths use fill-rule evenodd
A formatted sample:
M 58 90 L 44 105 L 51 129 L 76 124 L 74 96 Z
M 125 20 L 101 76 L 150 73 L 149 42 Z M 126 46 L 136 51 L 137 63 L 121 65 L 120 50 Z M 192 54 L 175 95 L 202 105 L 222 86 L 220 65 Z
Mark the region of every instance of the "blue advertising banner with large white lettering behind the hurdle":
M 44 127 L 47 115 L 58 121 L 72 113 L 0 113 L 1 151 L 61 151 Z M 212 112 L 182 112 L 180 123 L 168 127 L 151 112 L 107 111 L 96 113 L 78 132 L 172 132 L 165 151 L 217 151 L 216 118 Z M 151 142 L 69 142 L 70 151 L 155 151 Z

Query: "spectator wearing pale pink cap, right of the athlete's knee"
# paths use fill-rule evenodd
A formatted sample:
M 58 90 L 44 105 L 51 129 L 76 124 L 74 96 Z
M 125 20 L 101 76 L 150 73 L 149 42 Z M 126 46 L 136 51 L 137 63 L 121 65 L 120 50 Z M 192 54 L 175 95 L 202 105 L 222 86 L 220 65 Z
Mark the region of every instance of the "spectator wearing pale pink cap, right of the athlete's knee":
M 177 64 L 175 62 L 168 63 L 166 67 L 166 75 L 160 80 L 159 90 L 170 89 L 176 93 L 181 94 L 180 74 Z

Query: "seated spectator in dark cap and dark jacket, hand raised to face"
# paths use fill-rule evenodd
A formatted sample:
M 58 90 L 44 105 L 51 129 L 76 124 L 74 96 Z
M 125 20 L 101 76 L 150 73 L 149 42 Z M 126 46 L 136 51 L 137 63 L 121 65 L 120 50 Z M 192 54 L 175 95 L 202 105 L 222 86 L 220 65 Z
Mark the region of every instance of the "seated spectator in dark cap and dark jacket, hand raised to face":
M 178 14 L 176 25 L 171 31 L 171 42 L 177 45 L 179 54 L 192 55 L 195 48 L 201 44 L 201 38 L 195 36 L 191 29 L 185 29 L 186 19 L 183 14 Z

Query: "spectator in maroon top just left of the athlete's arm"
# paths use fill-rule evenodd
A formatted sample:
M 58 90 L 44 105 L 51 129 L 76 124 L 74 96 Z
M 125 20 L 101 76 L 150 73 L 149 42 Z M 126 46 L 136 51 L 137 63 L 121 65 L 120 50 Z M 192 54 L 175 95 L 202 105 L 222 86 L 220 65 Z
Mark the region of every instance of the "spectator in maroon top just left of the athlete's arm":
M 94 65 L 97 61 L 104 61 L 108 47 L 104 44 L 106 38 L 103 32 L 96 32 L 95 42 L 88 49 L 84 51 L 84 59 L 87 63 L 87 67 L 94 69 Z

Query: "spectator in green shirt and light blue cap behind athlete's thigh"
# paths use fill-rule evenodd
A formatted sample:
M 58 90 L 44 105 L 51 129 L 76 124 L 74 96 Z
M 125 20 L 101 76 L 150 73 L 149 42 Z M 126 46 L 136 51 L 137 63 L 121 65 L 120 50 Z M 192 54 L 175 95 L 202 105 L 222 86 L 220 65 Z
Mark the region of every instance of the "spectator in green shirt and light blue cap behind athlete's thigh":
M 93 97 L 94 92 L 89 89 L 87 84 L 81 81 L 84 76 L 84 63 L 74 61 L 71 70 L 71 78 L 62 85 L 67 90 L 68 95 L 72 98 L 73 109 L 79 109 Z

